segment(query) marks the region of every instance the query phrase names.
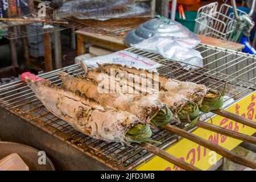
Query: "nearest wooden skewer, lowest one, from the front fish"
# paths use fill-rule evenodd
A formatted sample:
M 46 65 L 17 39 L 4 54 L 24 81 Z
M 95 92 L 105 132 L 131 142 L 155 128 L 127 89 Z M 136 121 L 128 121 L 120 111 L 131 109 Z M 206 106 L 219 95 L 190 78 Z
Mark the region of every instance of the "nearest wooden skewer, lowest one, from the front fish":
M 139 146 L 141 146 L 142 148 L 146 149 L 148 152 L 151 152 L 157 156 L 159 156 L 160 158 L 163 158 L 165 160 L 167 160 L 168 162 L 175 164 L 176 166 L 179 166 L 187 171 L 201 171 L 201 169 L 192 166 L 191 164 L 188 164 L 186 162 L 184 162 L 183 160 L 180 160 L 179 158 L 176 158 L 175 156 L 169 154 L 168 152 L 161 150 L 160 148 L 150 144 L 150 143 L 142 143 L 139 144 Z

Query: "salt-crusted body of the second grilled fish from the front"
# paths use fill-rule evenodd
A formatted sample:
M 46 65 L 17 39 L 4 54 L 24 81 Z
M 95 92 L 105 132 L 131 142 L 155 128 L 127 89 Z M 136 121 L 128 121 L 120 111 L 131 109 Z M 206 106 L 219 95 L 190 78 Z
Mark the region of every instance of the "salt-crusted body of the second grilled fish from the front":
M 157 95 L 135 96 L 121 92 L 100 93 L 97 90 L 97 82 L 91 78 L 74 77 L 64 72 L 59 73 L 59 77 L 61 81 L 63 81 L 65 88 L 73 92 L 79 90 L 80 93 L 85 94 L 88 98 L 92 98 L 102 106 L 128 111 L 141 121 L 149 124 L 151 124 L 151 119 L 154 118 L 158 111 L 165 105 L 158 99 Z

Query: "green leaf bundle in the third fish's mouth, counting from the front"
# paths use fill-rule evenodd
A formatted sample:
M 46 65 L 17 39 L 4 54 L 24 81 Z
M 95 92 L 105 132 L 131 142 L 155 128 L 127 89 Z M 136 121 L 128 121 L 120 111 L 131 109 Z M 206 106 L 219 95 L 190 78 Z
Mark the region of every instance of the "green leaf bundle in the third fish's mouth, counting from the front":
M 199 106 L 195 102 L 188 101 L 178 113 L 180 119 L 195 119 L 200 113 Z

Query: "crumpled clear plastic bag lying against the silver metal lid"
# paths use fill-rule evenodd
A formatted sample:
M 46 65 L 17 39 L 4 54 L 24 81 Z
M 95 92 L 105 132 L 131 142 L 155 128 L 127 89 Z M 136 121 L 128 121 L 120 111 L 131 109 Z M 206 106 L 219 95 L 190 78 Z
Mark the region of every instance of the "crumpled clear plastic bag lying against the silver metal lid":
M 180 39 L 171 36 L 153 36 L 138 44 L 131 44 L 132 47 L 145 49 L 160 53 L 167 59 L 181 61 L 183 63 L 203 67 L 203 57 L 195 48 L 200 43 L 196 36 L 191 39 Z M 181 64 L 186 66 L 185 64 Z M 189 66 L 189 69 L 195 67 Z

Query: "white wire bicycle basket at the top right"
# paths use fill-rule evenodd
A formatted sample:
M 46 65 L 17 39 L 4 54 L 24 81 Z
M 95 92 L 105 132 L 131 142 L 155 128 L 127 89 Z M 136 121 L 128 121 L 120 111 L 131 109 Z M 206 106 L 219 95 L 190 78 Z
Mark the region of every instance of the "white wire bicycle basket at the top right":
M 210 36 L 222 40 L 237 42 L 242 33 L 243 22 L 234 18 L 233 7 L 223 4 L 217 11 L 218 3 L 210 3 L 197 11 L 194 32 L 199 35 Z M 239 16 L 246 15 L 244 11 L 237 10 Z

